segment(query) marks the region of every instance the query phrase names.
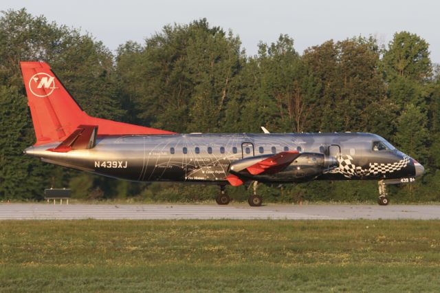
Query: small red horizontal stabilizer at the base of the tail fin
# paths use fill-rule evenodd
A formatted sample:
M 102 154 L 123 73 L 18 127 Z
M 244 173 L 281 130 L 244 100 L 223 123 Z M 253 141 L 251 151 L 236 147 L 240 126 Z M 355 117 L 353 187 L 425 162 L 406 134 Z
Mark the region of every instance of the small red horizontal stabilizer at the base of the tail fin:
M 56 151 L 58 153 L 67 153 L 72 149 L 91 149 L 96 144 L 96 125 L 80 125 L 71 135 L 69 135 L 61 144 L 54 149 L 47 151 Z

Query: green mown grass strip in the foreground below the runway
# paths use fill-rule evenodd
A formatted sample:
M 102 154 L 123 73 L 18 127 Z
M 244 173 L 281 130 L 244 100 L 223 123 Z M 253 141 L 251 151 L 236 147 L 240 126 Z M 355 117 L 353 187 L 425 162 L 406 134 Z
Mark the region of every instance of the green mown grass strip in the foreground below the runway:
M 4 292 L 436 292 L 440 221 L 0 221 Z

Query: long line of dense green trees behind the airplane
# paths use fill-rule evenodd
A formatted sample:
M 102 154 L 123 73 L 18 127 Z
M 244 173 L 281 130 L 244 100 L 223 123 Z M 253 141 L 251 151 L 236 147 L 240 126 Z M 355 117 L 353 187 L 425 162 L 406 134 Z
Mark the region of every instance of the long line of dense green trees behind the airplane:
M 114 54 L 81 33 L 24 8 L 0 17 L 0 199 L 38 200 L 43 189 L 70 186 L 83 199 L 197 201 L 217 188 L 111 180 L 22 155 L 34 143 L 19 61 L 46 61 L 91 116 L 188 132 L 377 133 L 426 167 L 397 201 L 440 199 L 440 78 L 428 43 L 396 32 L 294 48 L 281 34 L 248 56 L 239 36 L 206 19 L 165 25 L 144 43 Z M 375 200 L 375 182 L 310 182 L 261 188 L 274 202 Z M 230 188 L 237 200 L 243 188 Z

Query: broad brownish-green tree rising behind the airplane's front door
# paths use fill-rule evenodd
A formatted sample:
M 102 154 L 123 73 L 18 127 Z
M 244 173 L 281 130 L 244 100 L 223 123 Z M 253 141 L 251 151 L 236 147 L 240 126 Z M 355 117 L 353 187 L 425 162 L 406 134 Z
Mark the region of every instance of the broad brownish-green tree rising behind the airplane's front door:
M 318 78 L 314 131 L 374 131 L 371 120 L 390 116 L 375 39 L 327 41 L 305 50 L 304 61 Z M 365 111 L 375 105 L 374 111 Z

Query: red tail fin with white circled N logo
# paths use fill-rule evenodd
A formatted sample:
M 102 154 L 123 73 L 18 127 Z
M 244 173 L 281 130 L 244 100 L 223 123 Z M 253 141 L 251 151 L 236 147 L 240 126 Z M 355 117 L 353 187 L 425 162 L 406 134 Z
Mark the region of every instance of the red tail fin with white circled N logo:
M 21 62 L 20 65 L 34 122 L 35 145 L 61 142 L 80 124 L 96 125 L 98 135 L 173 133 L 88 116 L 47 63 Z

